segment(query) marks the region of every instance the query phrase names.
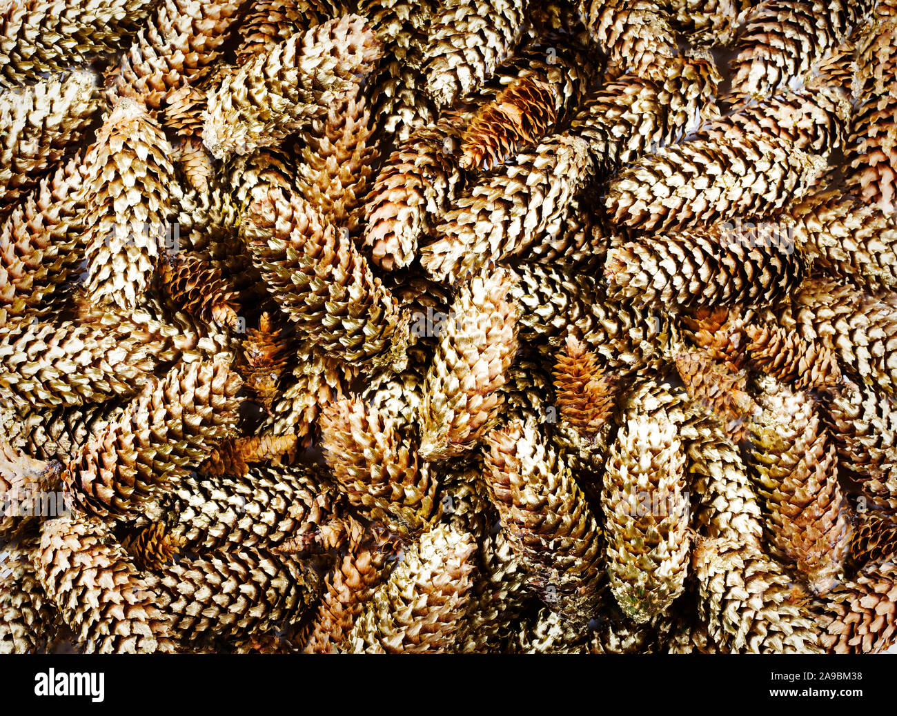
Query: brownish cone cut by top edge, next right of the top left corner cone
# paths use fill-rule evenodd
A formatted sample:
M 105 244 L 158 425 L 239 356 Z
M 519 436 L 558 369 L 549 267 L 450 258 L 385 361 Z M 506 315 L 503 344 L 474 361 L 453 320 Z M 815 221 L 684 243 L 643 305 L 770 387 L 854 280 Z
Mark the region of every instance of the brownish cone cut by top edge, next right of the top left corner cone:
M 163 109 L 167 95 L 183 81 L 198 83 L 221 57 L 237 18 L 240 0 L 162 0 L 152 21 L 137 33 L 109 84 L 119 93 L 144 101 L 148 109 Z

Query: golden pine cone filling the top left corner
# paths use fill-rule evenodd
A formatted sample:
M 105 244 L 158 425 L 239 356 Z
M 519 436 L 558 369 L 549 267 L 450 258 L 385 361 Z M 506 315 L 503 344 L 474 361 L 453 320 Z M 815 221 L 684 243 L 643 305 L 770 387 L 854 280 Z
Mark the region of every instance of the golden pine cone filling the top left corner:
M 0 86 L 81 65 L 114 51 L 152 12 L 155 0 L 21 0 L 0 10 Z

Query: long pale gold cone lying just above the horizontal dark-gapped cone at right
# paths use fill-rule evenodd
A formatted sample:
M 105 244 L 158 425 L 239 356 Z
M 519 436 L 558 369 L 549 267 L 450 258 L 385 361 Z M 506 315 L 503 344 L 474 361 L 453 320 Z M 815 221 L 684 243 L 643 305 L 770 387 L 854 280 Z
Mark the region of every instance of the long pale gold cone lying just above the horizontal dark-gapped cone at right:
M 614 223 L 688 229 L 774 214 L 806 193 L 824 162 L 772 136 L 696 139 L 649 154 L 608 185 Z

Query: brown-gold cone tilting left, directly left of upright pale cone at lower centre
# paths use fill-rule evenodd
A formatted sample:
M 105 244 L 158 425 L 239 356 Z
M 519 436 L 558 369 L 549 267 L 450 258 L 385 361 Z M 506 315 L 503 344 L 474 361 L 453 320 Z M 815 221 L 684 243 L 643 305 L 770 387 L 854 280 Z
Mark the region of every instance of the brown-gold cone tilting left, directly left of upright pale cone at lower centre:
M 569 468 L 534 423 L 511 421 L 485 446 L 491 499 L 532 572 L 529 583 L 548 607 L 587 624 L 599 598 L 602 544 Z

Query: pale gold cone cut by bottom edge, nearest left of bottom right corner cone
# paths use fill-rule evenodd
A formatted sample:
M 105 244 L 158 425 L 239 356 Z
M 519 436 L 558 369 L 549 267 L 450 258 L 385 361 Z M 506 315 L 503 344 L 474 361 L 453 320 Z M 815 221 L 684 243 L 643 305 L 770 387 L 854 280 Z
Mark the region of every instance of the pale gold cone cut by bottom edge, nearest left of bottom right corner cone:
M 790 578 L 756 546 L 705 539 L 694 547 L 698 613 L 726 653 L 815 653 L 816 624 L 798 607 Z

